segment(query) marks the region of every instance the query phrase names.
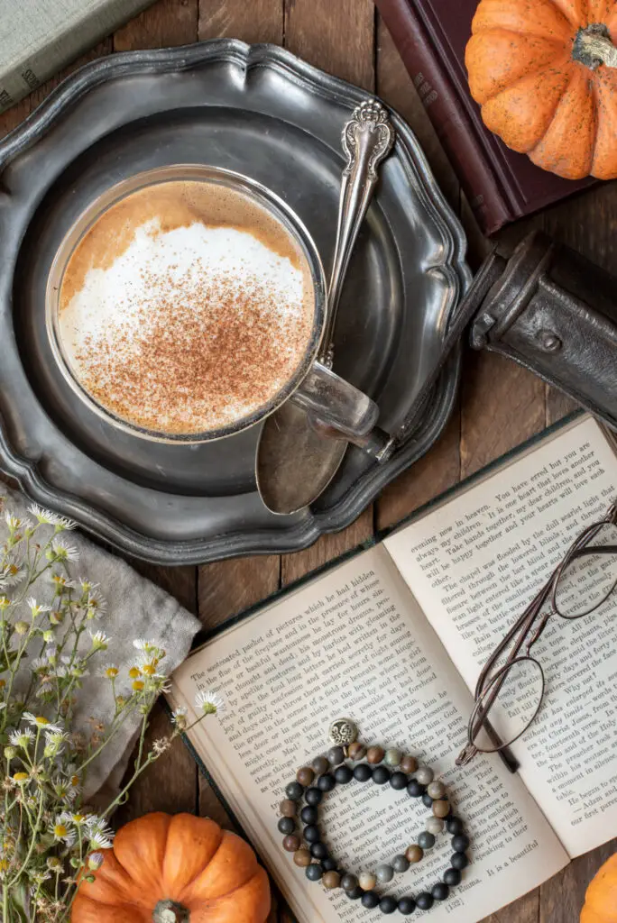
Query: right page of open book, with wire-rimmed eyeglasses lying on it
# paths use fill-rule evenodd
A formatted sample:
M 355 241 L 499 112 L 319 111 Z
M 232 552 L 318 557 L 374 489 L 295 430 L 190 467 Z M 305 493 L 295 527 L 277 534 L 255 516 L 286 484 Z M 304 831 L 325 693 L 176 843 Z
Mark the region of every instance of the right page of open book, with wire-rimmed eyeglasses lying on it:
M 616 496 L 617 459 L 586 417 L 386 540 L 468 689 L 578 533 Z M 610 839 L 617 824 L 617 594 L 587 617 L 552 616 L 532 653 L 546 690 L 513 751 L 574 857 Z

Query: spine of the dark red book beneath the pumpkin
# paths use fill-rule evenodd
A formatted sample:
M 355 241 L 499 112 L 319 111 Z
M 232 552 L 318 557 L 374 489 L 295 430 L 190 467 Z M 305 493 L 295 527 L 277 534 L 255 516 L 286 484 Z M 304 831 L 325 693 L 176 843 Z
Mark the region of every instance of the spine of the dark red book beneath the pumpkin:
M 417 9 L 412 0 L 375 2 L 480 227 L 486 234 L 492 234 L 520 216 L 514 213 L 502 194 L 454 84 L 448 78 L 443 63 L 436 58 Z

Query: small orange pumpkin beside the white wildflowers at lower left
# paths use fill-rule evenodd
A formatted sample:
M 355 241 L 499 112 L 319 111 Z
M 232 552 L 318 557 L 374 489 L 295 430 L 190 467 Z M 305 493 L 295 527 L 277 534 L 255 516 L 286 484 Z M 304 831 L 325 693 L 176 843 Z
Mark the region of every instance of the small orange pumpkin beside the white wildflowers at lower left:
M 264 923 L 268 876 L 250 846 L 192 814 L 130 821 L 81 881 L 72 923 Z

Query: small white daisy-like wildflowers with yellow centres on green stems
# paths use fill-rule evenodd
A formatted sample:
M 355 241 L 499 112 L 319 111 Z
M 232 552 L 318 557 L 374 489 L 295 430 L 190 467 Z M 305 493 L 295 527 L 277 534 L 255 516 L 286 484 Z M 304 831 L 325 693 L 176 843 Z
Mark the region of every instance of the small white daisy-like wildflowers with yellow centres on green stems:
M 3 923 L 62 923 L 78 881 L 93 880 L 103 861 L 99 850 L 112 845 L 110 814 L 188 725 L 186 713 L 176 712 L 169 737 L 147 748 L 148 715 L 168 683 L 165 652 L 139 640 L 127 670 L 106 662 L 110 639 L 92 624 L 104 600 L 91 581 L 72 577 L 69 562 L 78 553 L 59 537 L 74 523 L 36 505 L 29 512 L 28 519 L 4 512 L 8 534 L 0 549 L 0 903 Z M 45 582 L 53 588 L 51 605 L 37 600 Z M 114 710 L 107 725 L 93 719 L 87 736 L 72 722 L 82 680 L 91 673 Z M 201 694 L 198 721 L 222 707 L 215 693 Z M 133 772 L 95 813 L 83 803 L 88 773 L 133 715 L 140 720 Z

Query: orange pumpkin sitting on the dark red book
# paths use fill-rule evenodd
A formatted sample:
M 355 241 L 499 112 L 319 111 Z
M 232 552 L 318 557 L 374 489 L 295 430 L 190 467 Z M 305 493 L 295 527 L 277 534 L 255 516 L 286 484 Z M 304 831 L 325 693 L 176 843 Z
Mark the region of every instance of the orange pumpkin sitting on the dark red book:
M 469 88 L 508 147 L 544 170 L 617 176 L 617 2 L 480 0 Z

